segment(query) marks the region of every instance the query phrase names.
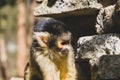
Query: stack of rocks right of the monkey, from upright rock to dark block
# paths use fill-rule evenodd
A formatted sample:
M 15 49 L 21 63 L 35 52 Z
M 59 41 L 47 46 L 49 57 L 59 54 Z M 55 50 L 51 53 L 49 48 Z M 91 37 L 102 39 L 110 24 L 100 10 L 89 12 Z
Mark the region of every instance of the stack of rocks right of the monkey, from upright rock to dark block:
M 92 80 L 120 80 L 120 0 L 100 9 L 96 18 L 99 35 L 80 37 L 77 52 L 89 59 Z

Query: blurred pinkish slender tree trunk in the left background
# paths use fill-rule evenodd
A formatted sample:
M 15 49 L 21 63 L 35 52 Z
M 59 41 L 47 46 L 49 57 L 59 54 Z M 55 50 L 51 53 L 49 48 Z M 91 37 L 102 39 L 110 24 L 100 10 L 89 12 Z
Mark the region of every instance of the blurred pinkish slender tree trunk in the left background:
M 26 64 L 27 46 L 26 46 L 26 6 L 25 2 L 18 0 L 18 31 L 17 31 L 17 68 L 18 75 L 24 75 Z

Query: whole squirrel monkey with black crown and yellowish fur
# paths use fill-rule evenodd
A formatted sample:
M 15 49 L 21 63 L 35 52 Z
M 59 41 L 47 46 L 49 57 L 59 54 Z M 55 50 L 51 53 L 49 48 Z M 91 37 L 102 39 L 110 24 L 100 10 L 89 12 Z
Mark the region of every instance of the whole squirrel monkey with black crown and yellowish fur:
M 71 33 L 57 20 L 39 22 L 33 30 L 25 80 L 77 80 Z

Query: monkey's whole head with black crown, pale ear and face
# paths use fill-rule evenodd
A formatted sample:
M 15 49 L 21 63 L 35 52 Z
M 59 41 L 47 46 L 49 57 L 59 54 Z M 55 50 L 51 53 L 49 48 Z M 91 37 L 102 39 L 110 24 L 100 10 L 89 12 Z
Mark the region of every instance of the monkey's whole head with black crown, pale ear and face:
M 71 49 L 71 33 L 67 26 L 57 20 L 48 19 L 38 22 L 33 28 L 33 43 L 35 47 L 57 51 L 65 56 Z

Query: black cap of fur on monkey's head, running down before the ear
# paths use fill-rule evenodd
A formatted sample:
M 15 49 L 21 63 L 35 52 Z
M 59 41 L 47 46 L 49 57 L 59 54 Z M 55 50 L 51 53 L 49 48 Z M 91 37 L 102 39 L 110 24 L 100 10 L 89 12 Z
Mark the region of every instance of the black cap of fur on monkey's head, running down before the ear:
M 63 22 L 55 19 L 48 19 L 45 21 L 37 22 L 33 28 L 33 31 L 50 33 L 51 36 L 49 39 L 49 47 L 55 47 L 55 41 L 57 40 L 57 38 L 61 36 L 62 33 L 69 32 L 67 26 Z

